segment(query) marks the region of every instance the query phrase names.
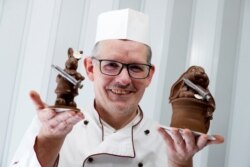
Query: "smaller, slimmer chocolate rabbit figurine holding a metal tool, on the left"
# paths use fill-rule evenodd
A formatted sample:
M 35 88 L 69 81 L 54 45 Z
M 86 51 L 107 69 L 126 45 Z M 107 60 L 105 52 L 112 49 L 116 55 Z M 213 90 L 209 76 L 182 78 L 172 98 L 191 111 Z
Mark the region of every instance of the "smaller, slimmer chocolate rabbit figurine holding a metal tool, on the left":
M 81 58 L 79 55 L 82 55 L 82 53 L 82 51 L 78 54 L 74 53 L 73 49 L 69 48 L 68 60 L 65 63 L 65 68 L 62 70 L 60 67 L 54 66 L 54 68 L 60 72 L 56 78 L 57 87 L 55 93 L 57 98 L 55 101 L 55 108 L 73 108 L 79 110 L 77 109 L 74 98 L 78 95 L 78 88 L 82 86 L 79 85 L 79 83 L 84 80 L 84 77 L 76 71 L 78 61 Z

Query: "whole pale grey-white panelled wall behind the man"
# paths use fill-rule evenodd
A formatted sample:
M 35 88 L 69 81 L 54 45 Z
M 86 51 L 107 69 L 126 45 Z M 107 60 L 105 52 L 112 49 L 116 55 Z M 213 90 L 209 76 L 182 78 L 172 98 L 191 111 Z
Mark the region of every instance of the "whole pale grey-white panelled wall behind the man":
M 89 55 L 97 15 L 126 7 L 151 21 L 156 73 L 141 102 L 145 114 L 168 125 L 171 85 L 188 66 L 201 65 L 217 104 L 210 133 L 222 134 L 225 143 L 204 149 L 194 164 L 250 166 L 250 0 L 0 0 L 0 166 L 7 166 L 35 115 L 28 92 L 53 101 L 50 65 L 63 66 L 68 47 Z M 91 97 L 86 80 L 77 102 L 86 105 Z

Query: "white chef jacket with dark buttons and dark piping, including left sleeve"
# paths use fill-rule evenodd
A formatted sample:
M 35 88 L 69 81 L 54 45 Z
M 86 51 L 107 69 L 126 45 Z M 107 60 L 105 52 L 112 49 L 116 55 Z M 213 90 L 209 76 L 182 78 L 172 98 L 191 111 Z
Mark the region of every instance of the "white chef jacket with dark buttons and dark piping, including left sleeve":
M 93 106 L 67 135 L 58 167 L 166 167 L 167 152 L 159 126 L 140 111 L 124 128 L 115 131 L 102 121 Z M 10 167 L 40 167 L 33 146 L 40 129 L 35 118 Z

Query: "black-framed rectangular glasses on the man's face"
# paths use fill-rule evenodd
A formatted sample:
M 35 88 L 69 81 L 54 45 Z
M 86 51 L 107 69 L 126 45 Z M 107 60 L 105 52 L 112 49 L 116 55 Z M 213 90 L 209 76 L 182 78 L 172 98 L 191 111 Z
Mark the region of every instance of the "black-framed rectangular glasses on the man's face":
M 97 59 L 96 57 L 92 57 L 92 59 L 99 61 L 101 73 L 109 76 L 119 75 L 123 67 L 126 67 L 131 78 L 144 79 L 149 76 L 149 72 L 152 67 L 150 64 L 125 64 L 115 60 Z

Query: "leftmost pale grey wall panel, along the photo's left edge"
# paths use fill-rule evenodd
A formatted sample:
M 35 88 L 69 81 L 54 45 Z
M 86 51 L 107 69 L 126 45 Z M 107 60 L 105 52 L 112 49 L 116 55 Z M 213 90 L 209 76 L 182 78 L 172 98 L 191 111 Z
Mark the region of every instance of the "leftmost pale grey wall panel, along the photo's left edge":
M 0 165 L 6 161 L 6 142 L 9 136 L 9 123 L 14 115 L 19 73 L 22 70 L 21 48 L 24 45 L 24 27 L 27 19 L 28 0 L 0 2 L 0 75 L 1 78 L 1 117 L 0 117 Z

